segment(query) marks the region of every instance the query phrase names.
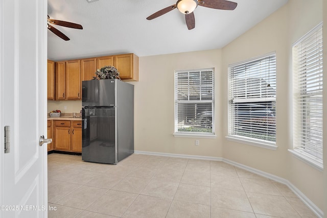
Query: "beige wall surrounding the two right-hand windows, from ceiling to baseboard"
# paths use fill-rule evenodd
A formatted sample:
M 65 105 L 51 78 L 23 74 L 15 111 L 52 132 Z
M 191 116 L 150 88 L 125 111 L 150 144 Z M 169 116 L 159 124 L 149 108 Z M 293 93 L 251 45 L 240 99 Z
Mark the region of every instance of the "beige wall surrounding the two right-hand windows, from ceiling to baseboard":
M 292 156 L 292 43 L 322 21 L 322 1 L 290 0 L 222 50 L 222 103 L 227 103 L 227 67 L 252 57 L 276 52 L 276 151 L 222 139 L 223 157 L 289 180 L 320 209 L 322 173 Z M 224 135 L 227 107 L 221 108 Z

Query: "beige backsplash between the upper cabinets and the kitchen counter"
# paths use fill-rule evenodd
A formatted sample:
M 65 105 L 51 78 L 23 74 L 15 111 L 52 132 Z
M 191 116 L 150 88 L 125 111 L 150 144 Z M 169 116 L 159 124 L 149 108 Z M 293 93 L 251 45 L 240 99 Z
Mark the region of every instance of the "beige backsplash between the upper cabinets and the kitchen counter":
M 82 101 L 49 101 L 46 112 L 61 110 L 62 113 L 80 112 L 82 110 Z

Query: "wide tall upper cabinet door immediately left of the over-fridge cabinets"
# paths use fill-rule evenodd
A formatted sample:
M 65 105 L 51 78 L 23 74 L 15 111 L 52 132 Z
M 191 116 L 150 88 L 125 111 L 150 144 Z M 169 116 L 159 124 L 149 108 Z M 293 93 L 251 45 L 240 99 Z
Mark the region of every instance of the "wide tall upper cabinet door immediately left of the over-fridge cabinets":
M 65 87 L 66 100 L 81 99 L 80 60 L 65 62 Z

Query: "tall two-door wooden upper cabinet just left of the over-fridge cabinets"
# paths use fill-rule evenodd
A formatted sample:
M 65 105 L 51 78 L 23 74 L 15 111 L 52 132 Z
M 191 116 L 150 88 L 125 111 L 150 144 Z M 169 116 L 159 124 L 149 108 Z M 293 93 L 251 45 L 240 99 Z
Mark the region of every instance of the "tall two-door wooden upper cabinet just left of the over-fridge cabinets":
M 80 60 L 60 61 L 55 66 L 56 100 L 81 100 Z

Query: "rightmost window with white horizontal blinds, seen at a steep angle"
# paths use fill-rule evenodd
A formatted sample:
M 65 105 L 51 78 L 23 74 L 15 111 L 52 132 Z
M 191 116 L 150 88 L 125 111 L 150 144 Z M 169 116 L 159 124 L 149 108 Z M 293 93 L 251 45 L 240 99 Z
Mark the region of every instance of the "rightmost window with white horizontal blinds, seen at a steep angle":
M 293 44 L 293 147 L 322 167 L 322 23 Z

